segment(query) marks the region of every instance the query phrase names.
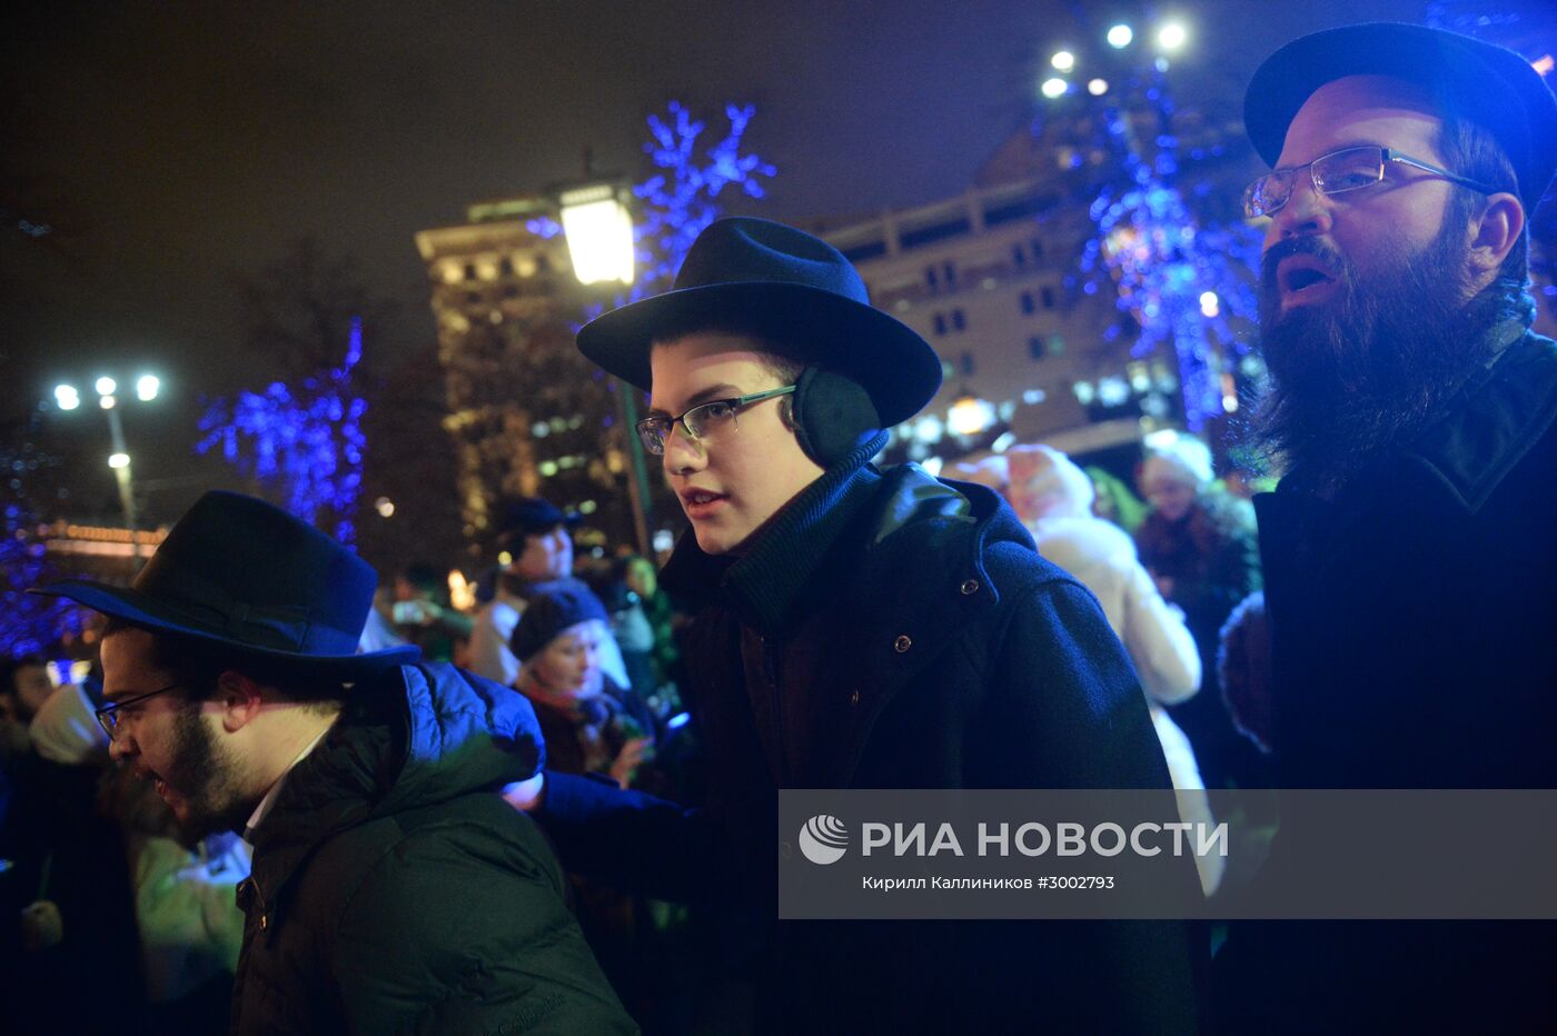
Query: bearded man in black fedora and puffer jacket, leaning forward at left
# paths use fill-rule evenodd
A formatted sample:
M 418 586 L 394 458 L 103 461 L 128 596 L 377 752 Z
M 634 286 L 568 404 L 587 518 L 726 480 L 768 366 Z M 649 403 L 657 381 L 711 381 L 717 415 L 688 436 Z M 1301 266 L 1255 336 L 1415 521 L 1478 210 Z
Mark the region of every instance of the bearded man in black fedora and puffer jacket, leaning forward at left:
M 374 571 L 322 532 L 207 493 L 109 616 L 98 720 L 190 834 L 254 870 L 235 1033 L 631 1033 L 534 824 L 497 790 L 540 731 L 515 692 L 416 649 L 353 653 Z

